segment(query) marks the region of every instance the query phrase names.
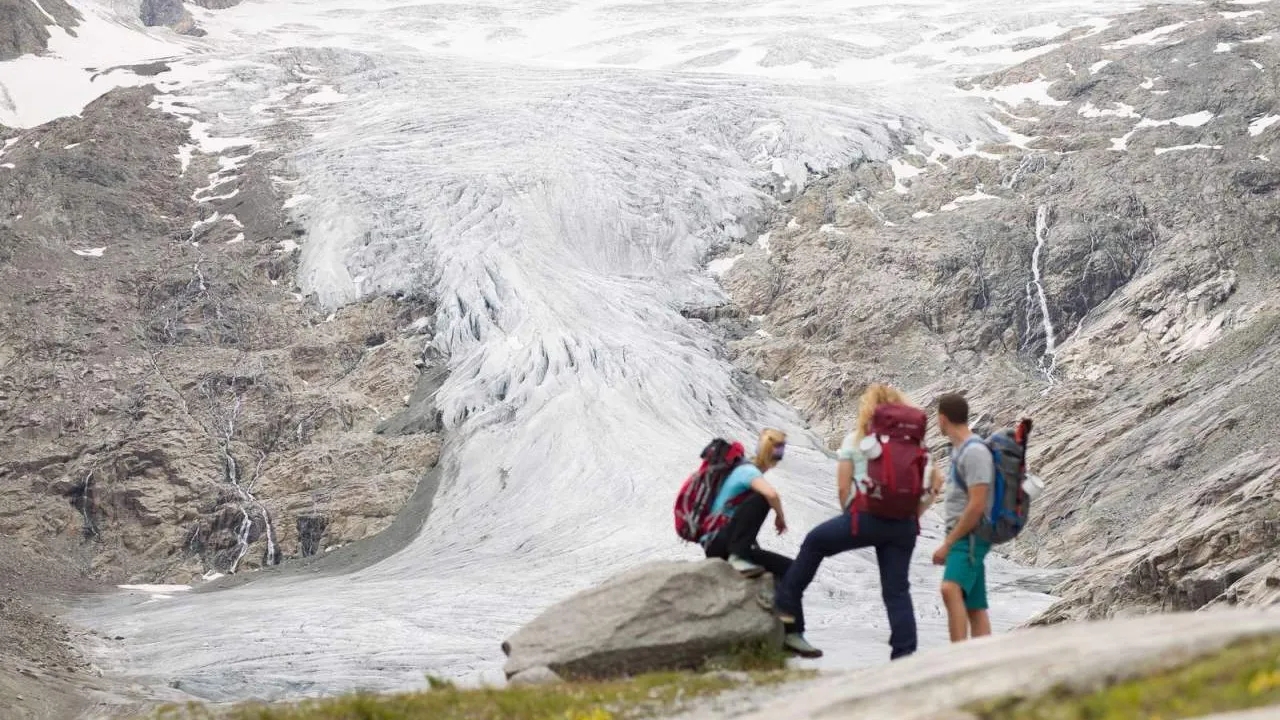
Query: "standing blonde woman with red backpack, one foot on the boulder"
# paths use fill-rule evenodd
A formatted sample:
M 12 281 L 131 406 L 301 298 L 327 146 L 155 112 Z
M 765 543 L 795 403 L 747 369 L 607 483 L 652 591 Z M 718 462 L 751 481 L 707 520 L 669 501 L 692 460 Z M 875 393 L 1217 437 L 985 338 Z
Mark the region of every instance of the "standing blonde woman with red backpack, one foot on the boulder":
M 778 583 L 774 607 L 791 630 L 785 637 L 785 647 L 791 652 L 822 657 L 822 651 L 804 638 L 804 591 L 824 557 L 860 547 L 876 548 L 881 596 L 890 623 L 890 657 L 896 660 L 915 652 L 915 610 L 908 571 L 919 518 L 942 484 L 941 474 L 933 469 L 931 489 L 923 487 L 927 424 L 924 413 L 891 386 L 873 383 L 863 393 L 858 423 L 838 454 L 836 483 L 844 511 L 805 536 L 800 553 Z M 883 447 L 882 439 L 887 439 Z M 887 466 L 901 477 L 887 478 L 892 474 L 886 473 Z M 895 488 L 900 492 L 886 492 Z

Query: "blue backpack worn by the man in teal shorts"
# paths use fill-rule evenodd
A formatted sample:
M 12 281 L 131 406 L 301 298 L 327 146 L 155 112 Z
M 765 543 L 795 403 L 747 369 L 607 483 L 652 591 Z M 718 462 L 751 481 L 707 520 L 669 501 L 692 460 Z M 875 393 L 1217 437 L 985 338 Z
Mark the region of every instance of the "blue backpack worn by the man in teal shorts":
M 1016 428 L 996 430 L 982 441 L 991 451 L 996 473 L 987 493 L 987 512 L 973 534 L 991 544 L 1006 543 L 1027 527 L 1032 500 L 1023 489 L 1023 480 L 1027 479 L 1027 439 L 1030 432 L 1032 421 L 1024 419 Z M 956 484 L 969 492 L 956 468 L 952 466 L 951 474 Z

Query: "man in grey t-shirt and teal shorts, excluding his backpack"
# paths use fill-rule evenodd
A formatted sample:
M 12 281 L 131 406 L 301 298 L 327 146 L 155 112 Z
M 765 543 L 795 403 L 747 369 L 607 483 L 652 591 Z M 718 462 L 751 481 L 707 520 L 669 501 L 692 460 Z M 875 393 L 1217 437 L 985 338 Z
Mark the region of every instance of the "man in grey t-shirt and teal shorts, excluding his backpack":
M 991 450 L 969 429 L 969 402 L 964 396 L 948 393 L 938 398 L 938 429 L 951 441 L 951 473 L 942 505 L 947 536 L 934 551 L 933 564 L 945 566 L 941 589 L 947 629 L 951 642 L 961 642 L 991 634 L 986 573 L 991 543 L 974 530 L 987 511 L 996 471 Z

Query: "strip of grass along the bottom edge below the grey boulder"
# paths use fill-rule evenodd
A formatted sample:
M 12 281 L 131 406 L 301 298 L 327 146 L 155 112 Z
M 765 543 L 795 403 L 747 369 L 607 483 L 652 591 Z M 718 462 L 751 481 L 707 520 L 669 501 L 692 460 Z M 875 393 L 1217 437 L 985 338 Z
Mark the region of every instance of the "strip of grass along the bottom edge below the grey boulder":
M 785 670 L 781 651 L 746 650 L 703 673 L 652 673 L 635 678 L 536 687 L 458 688 L 428 678 L 415 693 L 357 693 L 300 703 L 248 703 L 229 708 L 170 706 L 155 720 L 631 720 L 678 710 L 745 684 L 776 684 L 808 673 Z

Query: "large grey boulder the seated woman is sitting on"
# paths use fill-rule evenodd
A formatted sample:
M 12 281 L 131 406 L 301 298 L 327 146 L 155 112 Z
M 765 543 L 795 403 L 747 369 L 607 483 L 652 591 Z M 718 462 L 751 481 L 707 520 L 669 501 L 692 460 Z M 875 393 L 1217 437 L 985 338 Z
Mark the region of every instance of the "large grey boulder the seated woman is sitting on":
M 768 575 L 742 579 L 723 560 L 650 562 L 549 607 L 502 643 L 511 678 L 547 666 L 562 678 L 696 667 L 782 628 L 756 602 Z

